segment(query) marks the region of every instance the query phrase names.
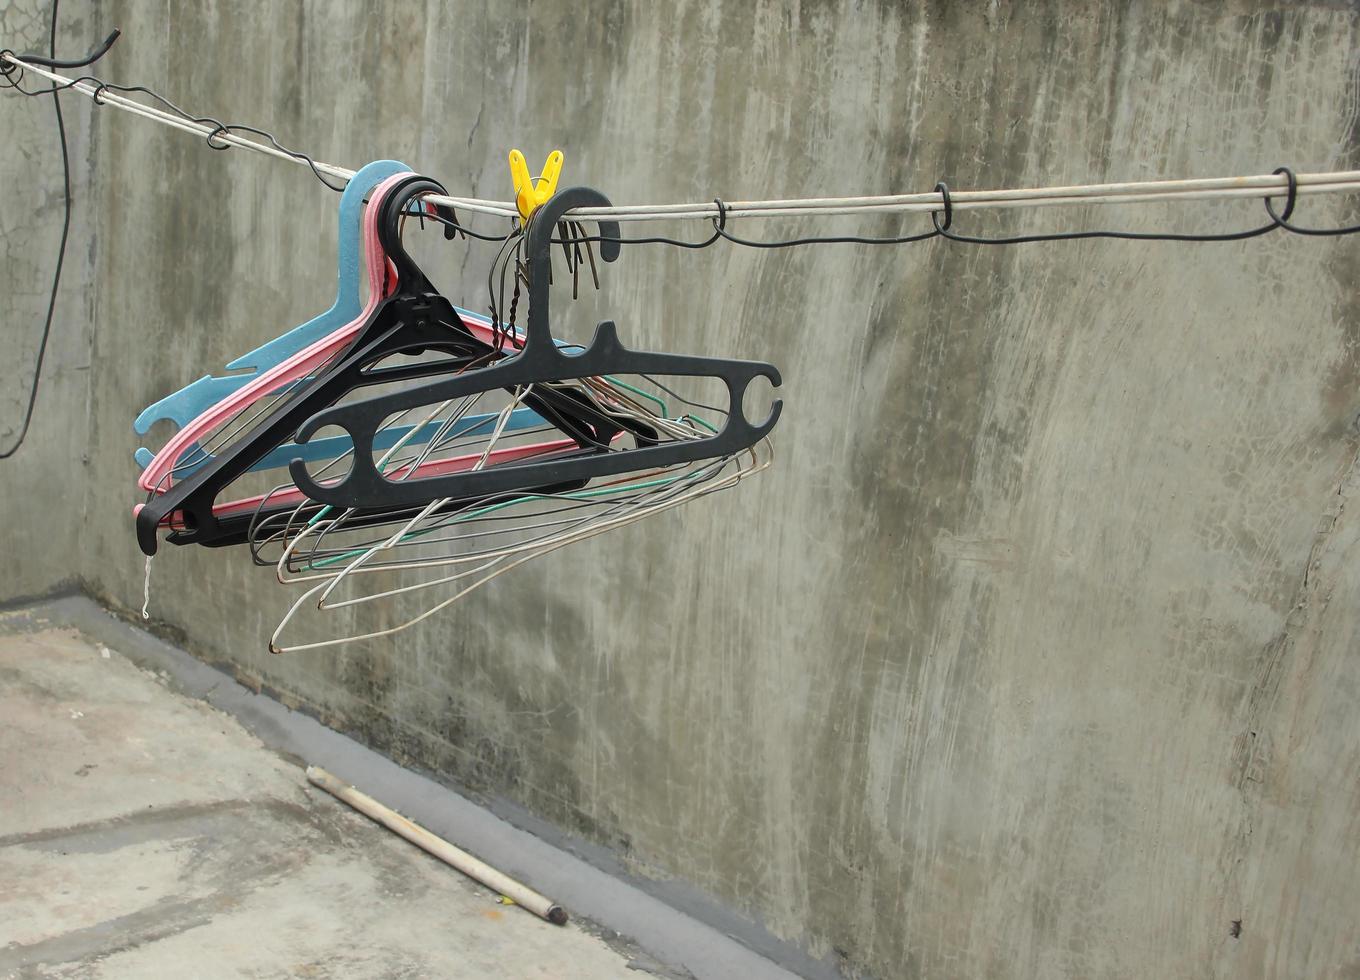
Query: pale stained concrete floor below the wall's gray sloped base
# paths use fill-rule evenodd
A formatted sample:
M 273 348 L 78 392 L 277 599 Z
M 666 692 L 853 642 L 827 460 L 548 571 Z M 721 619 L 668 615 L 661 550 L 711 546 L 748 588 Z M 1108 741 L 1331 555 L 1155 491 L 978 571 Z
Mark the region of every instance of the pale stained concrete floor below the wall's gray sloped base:
M 72 629 L 0 636 L 0 977 L 636 977 Z

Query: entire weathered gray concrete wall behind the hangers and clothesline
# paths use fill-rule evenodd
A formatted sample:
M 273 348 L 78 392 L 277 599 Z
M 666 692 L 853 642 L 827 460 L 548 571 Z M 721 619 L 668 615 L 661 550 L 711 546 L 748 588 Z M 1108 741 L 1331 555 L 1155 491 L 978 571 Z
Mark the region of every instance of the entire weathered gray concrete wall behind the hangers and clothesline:
M 30 7 L 0 18 L 7 38 L 37 37 Z M 563 148 L 570 181 L 619 203 L 1357 163 L 1346 4 L 124 0 L 65 16 L 72 49 L 126 31 L 114 80 L 479 196 L 506 196 L 511 145 Z M 22 133 L 0 147 L 0 276 L 24 349 L 57 158 L 49 106 L 0 113 Z M 131 420 L 324 307 L 333 198 L 301 169 L 78 120 L 88 265 L 42 438 L 0 466 L 20 559 L 4 591 L 79 575 L 133 608 Z M 1348 217 L 1316 198 L 1299 215 Z M 641 347 L 778 363 L 775 469 L 524 567 L 396 643 L 271 658 L 288 594 L 237 555 L 158 557 L 152 608 L 393 757 L 846 972 L 1349 976 L 1356 256 L 1285 237 L 632 249 L 571 322 L 608 313 Z M 480 306 L 487 261 L 450 246 L 437 268 Z

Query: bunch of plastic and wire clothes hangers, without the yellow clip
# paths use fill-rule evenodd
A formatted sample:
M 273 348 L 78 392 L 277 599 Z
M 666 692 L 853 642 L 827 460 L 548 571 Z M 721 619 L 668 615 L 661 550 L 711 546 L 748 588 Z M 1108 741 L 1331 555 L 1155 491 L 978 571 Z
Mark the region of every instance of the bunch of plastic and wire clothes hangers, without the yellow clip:
M 513 315 L 453 306 L 403 246 L 426 219 L 457 232 L 456 215 L 422 200 L 443 193 L 394 160 L 359 170 L 340 198 L 332 307 L 136 419 L 141 436 L 175 430 L 136 453 L 148 561 L 166 540 L 242 545 L 273 567 L 301 587 L 275 652 L 398 632 L 510 568 L 733 487 L 772 458 L 781 402 L 763 421 L 743 410 L 756 378 L 779 385 L 771 364 L 631 351 L 611 321 L 583 348 L 554 338 L 552 246 L 574 275 L 582 262 L 579 228 L 555 228 L 573 208 L 609 207 L 604 194 L 533 203 L 514 246 L 521 330 Z M 617 226 L 601 222 L 598 241 L 615 261 Z M 381 629 L 309 616 L 292 639 L 305 608 L 379 602 L 394 608 Z

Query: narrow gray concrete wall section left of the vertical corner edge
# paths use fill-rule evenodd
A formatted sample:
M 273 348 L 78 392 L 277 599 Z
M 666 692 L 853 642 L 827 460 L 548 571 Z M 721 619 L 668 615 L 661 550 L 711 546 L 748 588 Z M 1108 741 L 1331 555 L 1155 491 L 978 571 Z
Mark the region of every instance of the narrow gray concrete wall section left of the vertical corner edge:
M 91 27 L 88 7 L 71 4 L 61 30 L 83 38 Z M 46 52 L 48 4 L 19 0 L 0 10 L 0 48 Z M 107 31 L 105 31 L 107 34 Z M 101 34 L 101 38 L 103 35 Z M 0 451 L 15 444 L 33 383 L 42 323 L 52 295 L 52 273 L 61 239 L 61 144 L 52 97 L 22 99 L 0 92 Z M 86 102 L 86 105 L 80 105 Z M 53 311 L 52 338 L 42 371 L 39 402 L 23 449 L 0 461 L 0 595 L 22 597 L 71 583 L 84 575 L 82 526 L 90 487 L 91 323 L 99 294 L 95 285 L 99 212 L 91 186 L 92 120 L 88 99 L 63 103 L 67 144 L 73 167 L 75 207 L 61 291 Z

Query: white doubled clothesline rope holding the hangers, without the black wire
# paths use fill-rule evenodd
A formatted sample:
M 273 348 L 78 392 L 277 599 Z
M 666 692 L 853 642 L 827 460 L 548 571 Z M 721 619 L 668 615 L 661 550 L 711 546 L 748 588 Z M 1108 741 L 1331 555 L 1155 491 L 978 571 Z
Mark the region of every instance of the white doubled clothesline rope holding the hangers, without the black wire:
M 207 122 L 186 120 L 156 106 L 139 102 L 97 83 L 72 79 L 23 58 L 4 52 L 0 60 L 14 64 L 26 72 L 49 79 L 69 91 L 79 92 L 97 105 L 112 106 L 135 116 L 160 122 L 173 129 L 193 133 L 204 139 L 253 150 L 267 156 L 288 160 L 299 166 L 310 166 L 318 174 L 350 181 L 355 171 L 333 163 L 302 159 L 279 147 L 252 140 L 239 133 L 223 130 Z M 1345 170 L 1318 174 L 1296 174 L 1297 193 L 1303 194 L 1352 194 L 1360 192 L 1360 170 Z M 1080 183 L 1057 188 L 1012 188 L 998 190 L 951 190 L 953 211 L 1044 208 L 1073 204 L 1144 204 L 1155 201 L 1202 201 L 1282 197 L 1289 189 L 1285 174 L 1255 174 L 1248 177 L 1205 177 L 1171 181 L 1123 181 L 1115 183 Z M 515 217 L 518 211 L 511 201 L 494 201 L 475 197 L 431 196 L 432 204 L 445 204 L 477 215 L 494 217 Z M 813 197 L 771 201 L 724 201 L 721 213 L 714 201 L 695 204 L 634 204 L 611 208 L 578 208 L 568 213 L 574 219 L 611 217 L 616 222 L 654 220 L 711 220 L 715 217 L 808 217 L 831 215 L 885 215 L 925 213 L 944 208 L 938 190 L 910 194 L 881 194 L 861 197 Z

